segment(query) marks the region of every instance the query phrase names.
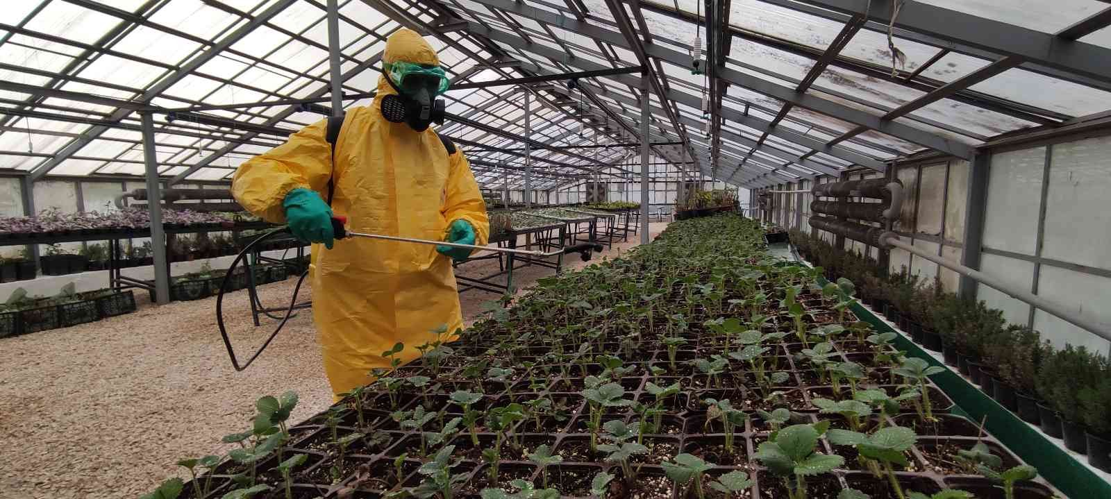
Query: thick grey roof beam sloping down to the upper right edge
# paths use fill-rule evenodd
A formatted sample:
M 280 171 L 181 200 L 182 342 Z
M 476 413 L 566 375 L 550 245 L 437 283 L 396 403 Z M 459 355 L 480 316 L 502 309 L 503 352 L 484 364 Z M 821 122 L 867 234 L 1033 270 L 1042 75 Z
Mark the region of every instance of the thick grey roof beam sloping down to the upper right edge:
M 842 12 L 868 16 L 890 22 L 892 2 L 869 0 L 800 0 L 802 3 Z M 869 9 L 871 3 L 871 9 Z M 971 46 L 1000 56 L 1018 57 L 1050 68 L 1111 82 L 1111 49 L 1061 39 L 1054 34 L 981 18 L 955 10 L 904 0 L 894 26 L 938 39 Z

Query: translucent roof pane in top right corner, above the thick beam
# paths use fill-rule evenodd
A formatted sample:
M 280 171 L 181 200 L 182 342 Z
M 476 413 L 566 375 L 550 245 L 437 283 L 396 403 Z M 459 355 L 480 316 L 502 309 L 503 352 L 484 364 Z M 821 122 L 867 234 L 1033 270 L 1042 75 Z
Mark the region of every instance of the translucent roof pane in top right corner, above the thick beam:
M 1097 0 L 923 0 L 944 9 L 1055 33 L 1107 8 Z

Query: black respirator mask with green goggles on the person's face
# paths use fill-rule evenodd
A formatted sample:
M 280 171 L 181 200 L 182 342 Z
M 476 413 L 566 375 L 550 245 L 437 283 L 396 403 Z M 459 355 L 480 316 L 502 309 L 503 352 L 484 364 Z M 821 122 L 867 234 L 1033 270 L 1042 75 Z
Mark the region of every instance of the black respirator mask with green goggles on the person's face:
M 448 91 L 448 77 L 438 66 L 412 62 L 383 64 L 386 81 L 397 94 L 382 97 L 382 117 L 424 131 L 432 122 L 443 123 L 444 102 L 436 97 Z

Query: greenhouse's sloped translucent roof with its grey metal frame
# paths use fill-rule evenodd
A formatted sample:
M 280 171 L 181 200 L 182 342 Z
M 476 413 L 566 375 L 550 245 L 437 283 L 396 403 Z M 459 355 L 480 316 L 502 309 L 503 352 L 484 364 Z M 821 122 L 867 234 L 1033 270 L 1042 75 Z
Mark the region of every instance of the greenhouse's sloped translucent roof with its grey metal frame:
M 483 188 L 520 189 L 530 203 L 532 191 L 639 176 L 647 199 L 649 162 L 660 161 L 677 182 L 721 181 L 754 201 L 772 186 L 953 157 L 971 163 L 965 248 L 980 247 L 985 152 L 1105 127 L 1107 111 L 1090 111 L 1111 97 L 1111 6 L 1099 1 L 998 11 L 963 0 L 10 8 L 0 174 L 19 178 L 24 213 L 36 212 L 33 183 L 58 176 L 146 178 L 152 191 L 227 181 L 292 131 L 369 103 L 399 27 L 438 50 L 453 87 L 439 131 L 463 147 Z M 697 60 L 704 74 L 693 73 Z M 962 252 L 970 267 L 979 258 Z

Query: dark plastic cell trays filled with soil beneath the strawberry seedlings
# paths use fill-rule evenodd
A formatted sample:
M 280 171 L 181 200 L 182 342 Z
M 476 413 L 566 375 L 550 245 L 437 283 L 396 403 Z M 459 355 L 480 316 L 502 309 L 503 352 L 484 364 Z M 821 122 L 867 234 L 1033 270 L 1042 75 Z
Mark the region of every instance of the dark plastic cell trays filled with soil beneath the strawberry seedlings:
M 727 227 L 729 230 L 718 227 L 722 223 L 730 223 Z M 763 233 L 754 222 L 735 217 L 698 219 L 677 223 L 668 232 L 675 230 L 677 226 L 691 228 L 688 230 L 701 228 L 719 237 L 735 237 L 735 232 L 741 231 L 752 241 L 748 250 L 762 255 Z M 654 257 L 645 258 L 660 258 L 663 251 L 673 251 L 674 256 L 698 250 L 703 255 L 729 251 L 723 249 L 728 244 L 712 238 L 704 246 L 692 244 L 677 240 L 683 237 L 681 231 L 679 236 L 668 232 L 652 243 L 662 246 L 664 250 L 654 251 Z M 699 248 L 690 248 L 692 246 Z M 284 456 L 292 452 L 308 456 L 306 463 L 294 473 L 293 497 L 380 498 L 418 487 L 428 476 L 422 470 L 428 471 L 432 455 L 440 448 L 440 445 L 429 443 L 432 433 L 440 431 L 446 422 L 463 416 L 463 407 L 451 401 L 452 393 L 463 390 L 480 395 L 469 406 L 478 413 L 490 415 L 491 410 L 521 405 L 518 410 L 523 411 L 524 418 L 512 421 L 510 429 L 501 432 L 491 427 L 497 421 L 479 418 L 473 435 L 461 427 L 462 431 L 443 442 L 454 446 L 452 473 L 458 473 L 459 479 L 451 487 L 453 498 L 479 498 L 484 488 L 500 488 L 506 493 L 513 493 L 517 488 L 511 482 L 517 479 L 531 481 L 541 488 L 546 477 L 548 487 L 557 488 L 562 497 L 590 497 L 591 481 L 600 472 L 615 476 L 604 488 L 608 498 L 695 497 L 690 491 L 690 485 L 677 485 L 668 478 L 664 462 L 671 462 L 681 453 L 695 456 L 710 465 L 703 479 L 705 497 L 725 497 L 711 489 L 709 483 L 727 472 L 744 471 L 752 483 L 740 497 L 785 498 L 783 480 L 757 459 L 758 448 L 772 438 L 775 425 L 785 427 L 823 421 L 820 425 L 828 423 L 831 429 L 850 428 L 849 419 L 835 413 L 822 413 L 815 400 L 848 400 L 852 398 L 853 388 L 844 381 L 834 386 L 819 375 L 815 362 L 810 358 L 812 356 L 803 350 L 813 348 L 820 339 L 810 337 L 808 345 L 797 341 L 794 317 L 778 305 L 784 298 L 783 287 L 777 286 L 768 276 L 799 272 L 760 265 L 752 253 L 744 255 L 743 248 L 732 251 L 742 255 L 728 260 L 730 263 L 747 262 L 744 265 L 759 267 L 759 276 L 705 263 L 713 262 L 713 259 L 670 258 L 669 263 L 680 266 L 680 271 L 618 260 L 552 278 L 551 282 L 519 298 L 514 307 L 478 321 L 460 341 L 450 345 L 453 351 L 442 360 L 426 358 L 390 372 L 389 379 L 397 381 L 393 390 L 386 389 L 383 382 L 373 383 L 358 396 L 341 400 L 331 410 L 292 427 L 292 438 Z M 695 276 L 702 283 L 717 281 L 724 290 L 715 298 L 695 299 L 693 283 L 684 286 L 682 282 L 684 276 Z M 751 287 L 753 280 L 754 289 Z M 788 279 L 780 282 L 794 281 Z M 644 309 L 628 312 L 633 297 L 643 299 L 649 292 L 645 289 L 659 295 L 649 303 L 669 308 L 669 313 L 682 315 L 685 326 L 679 327 L 667 319 L 668 316 L 661 317 L 662 311 L 654 316 Z M 785 379 L 770 385 L 759 383 L 750 369 L 751 365 L 740 360 L 733 360 L 711 379 L 699 360 L 713 359 L 713 356 L 728 358 L 728 353 L 739 351 L 733 343 L 727 350 L 724 341 L 740 331 L 724 333 L 705 322 L 721 317 L 745 317 L 748 313 L 744 311 L 725 312 L 727 305 L 731 303 L 730 300 L 748 303 L 747 300 L 755 292 L 763 293 L 765 298 L 762 305 L 758 303 L 759 312 L 765 318 L 760 332 L 787 333 L 782 340 L 764 341 L 763 347 L 768 351 L 760 358 L 769 365 L 774 362 L 777 371 L 787 373 Z M 803 287 L 797 299 L 804 310 L 800 319 L 807 331 L 834 323 L 860 326 L 852 312 L 845 312 L 839 322 L 833 308 L 837 301 L 823 298 L 818 290 Z M 691 300 L 698 301 L 698 305 L 688 306 Z M 749 306 L 741 307 L 743 310 Z M 600 312 L 602 308 L 607 308 L 608 312 Z M 607 329 L 609 332 L 604 332 Z M 585 331 L 592 331 L 593 336 Z M 635 335 L 630 331 L 635 331 Z M 664 343 L 667 338 L 683 338 L 685 343 L 669 349 Z M 825 362 L 854 362 L 865 369 L 865 376 L 857 381 L 858 390 L 883 390 L 889 396 L 895 396 L 904 388 L 907 380 L 893 372 L 885 360 L 897 356 L 892 347 L 862 341 L 853 333 L 834 336 L 828 343 L 831 348 L 823 359 Z M 614 368 L 614 358 L 620 358 L 618 368 Z M 491 368 L 498 370 L 492 371 Z M 598 379 L 603 381 L 593 385 Z M 618 399 L 629 402 L 607 409 L 600 423 L 648 421 L 644 433 L 631 440 L 639 439 L 647 451 L 630 458 L 629 469 L 634 470 L 635 477 L 628 477 L 628 480 L 622 466 L 607 461 L 605 452 L 591 450 L 591 403 L 585 390 L 590 386 L 605 383 L 620 386 Z M 659 403 L 658 426 L 654 417 L 642 419 L 637 411 L 638 405 L 657 405 L 655 396 L 649 391 L 650 383 L 657 387 L 679 386 L 678 392 Z M 414 388 L 417 386 L 422 388 Z M 894 469 L 893 477 L 900 487 L 928 495 L 943 488 L 961 488 L 981 498 L 1002 498 L 1001 489 L 954 463 L 953 456 L 958 450 L 968 450 L 982 442 L 1002 459 L 1004 466 L 1021 463 L 1019 458 L 975 422 L 950 413 L 955 409 L 954 403 L 932 382 L 925 381 L 920 387 L 929 393 L 935 421 L 923 419 L 915 403 L 905 400 L 894 412 L 873 411 L 862 418 L 858 427 L 864 432 L 882 426 L 914 430 L 917 438 L 903 452 L 907 465 Z M 744 413 L 743 422 L 732 433 L 732 448 L 727 448 L 725 428 L 718 413 L 708 406 L 708 399 L 728 399 L 734 409 Z M 550 409 L 526 409 L 541 403 L 549 403 Z M 408 416 L 400 417 L 403 412 L 398 411 L 418 408 L 436 415 L 421 427 L 423 431 L 399 422 Z M 772 412 L 775 409 L 788 409 L 790 420 L 781 423 L 765 420 L 762 416 L 765 412 L 762 411 Z M 337 445 L 332 443 L 336 441 L 333 436 L 342 438 L 351 433 L 360 436 L 354 437 L 340 458 Z M 504 439 L 500 457 L 483 457 L 483 450 L 499 448 L 499 435 Z M 831 472 L 809 477 L 808 498 L 832 499 L 848 487 L 869 493 L 874 499 L 895 497 L 889 480 L 873 476 L 869 467 L 858 459 L 854 447 L 833 446 L 827 436 L 818 440 L 817 450 L 841 456 L 844 461 Z M 473 439 L 478 440 L 478 446 L 472 442 Z M 427 446 L 423 451 L 422 440 Z M 598 442 L 611 441 L 600 437 Z M 533 462 L 529 453 L 540 446 L 548 446 L 560 460 L 543 468 Z M 257 469 L 262 470 L 261 482 L 276 487 L 282 485 L 283 480 L 272 470 L 278 459 L 271 456 L 257 465 Z M 490 477 L 493 462 L 498 463 L 496 478 Z M 231 476 L 243 469 L 243 465 L 234 461 L 218 467 L 212 475 L 214 485 L 210 496 L 220 497 L 233 489 Z M 191 487 L 187 486 L 183 495 L 191 497 Z M 258 497 L 284 497 L 280 487 L 268 493 Z M 1028 481 L 1021 485 L 1018 497 L 1049 498 L 1052 492 L 1043 485 Z

